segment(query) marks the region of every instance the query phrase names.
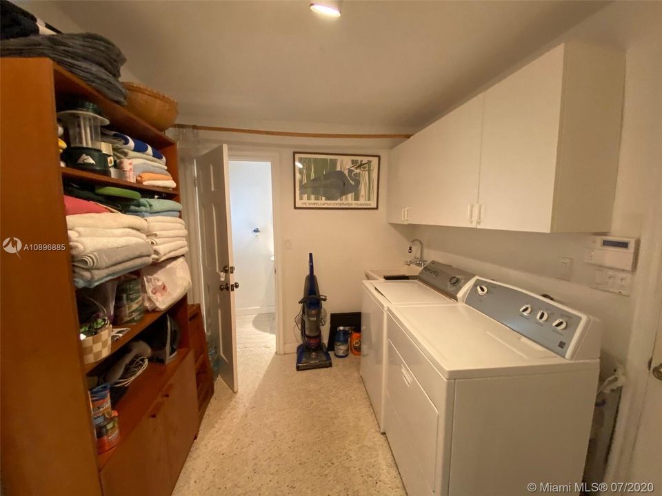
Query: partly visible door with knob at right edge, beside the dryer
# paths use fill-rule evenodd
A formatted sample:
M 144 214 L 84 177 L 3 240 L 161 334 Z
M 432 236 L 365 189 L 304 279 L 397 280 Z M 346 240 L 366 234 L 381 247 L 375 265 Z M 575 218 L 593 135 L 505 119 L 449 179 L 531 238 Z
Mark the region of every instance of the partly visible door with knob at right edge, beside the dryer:
M 657 338 L 646 382 L 643 411 L 637 428 L 630 462 L 631 482 L 650 482 L 653 494 L 662 495 L 662 311 L 657 322 Z M 657 491 L 657 492 L 656 492 Z

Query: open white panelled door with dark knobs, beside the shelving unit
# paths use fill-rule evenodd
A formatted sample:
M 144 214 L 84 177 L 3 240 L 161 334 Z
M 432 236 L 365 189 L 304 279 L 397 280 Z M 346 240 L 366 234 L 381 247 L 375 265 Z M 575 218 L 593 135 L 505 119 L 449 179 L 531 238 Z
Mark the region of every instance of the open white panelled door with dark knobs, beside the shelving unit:
M 237 328 L 234 322 L 234 282 L 228 145 L 212 149 L 195 161 L 199 181 L 203 304 L 207 332 L 220 334 L 220 375 L 237 392 Z

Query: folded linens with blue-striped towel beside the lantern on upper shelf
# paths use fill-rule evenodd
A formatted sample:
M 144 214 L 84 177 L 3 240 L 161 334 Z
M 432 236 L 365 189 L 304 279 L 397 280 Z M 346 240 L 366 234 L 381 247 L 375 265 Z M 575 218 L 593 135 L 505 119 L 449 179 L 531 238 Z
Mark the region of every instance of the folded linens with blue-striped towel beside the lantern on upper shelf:
M 117 166 L 125 171 L 132 170 L 138 183 L 170 189 L 177 187 L 165 165 L 165 157 L 159 150 L 126 134 L 105 129 L 101 132 L 102 141 L 112 143 L 112 154 Z

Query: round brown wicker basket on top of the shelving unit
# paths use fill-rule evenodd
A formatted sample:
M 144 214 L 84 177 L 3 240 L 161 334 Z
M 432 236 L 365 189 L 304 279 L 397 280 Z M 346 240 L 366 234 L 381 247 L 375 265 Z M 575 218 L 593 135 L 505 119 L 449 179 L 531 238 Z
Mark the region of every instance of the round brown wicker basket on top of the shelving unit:
M 159 131 L 165 131 L 177 118 L 177 101 L 138 83 L 122 83 L 126 88 L 126 108 Z

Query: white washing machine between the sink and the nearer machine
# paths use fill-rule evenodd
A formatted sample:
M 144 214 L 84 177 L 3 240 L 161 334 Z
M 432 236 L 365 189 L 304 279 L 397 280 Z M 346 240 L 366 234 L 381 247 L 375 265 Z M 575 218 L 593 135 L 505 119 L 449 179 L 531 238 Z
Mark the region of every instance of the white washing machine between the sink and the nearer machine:
M 417 280 L 363 281 L 361 378 L 381 432 L 384 432 L 386 311 L 391 304 L 457 304 L 473 274 L 431 261 Z

